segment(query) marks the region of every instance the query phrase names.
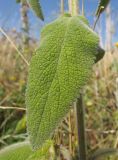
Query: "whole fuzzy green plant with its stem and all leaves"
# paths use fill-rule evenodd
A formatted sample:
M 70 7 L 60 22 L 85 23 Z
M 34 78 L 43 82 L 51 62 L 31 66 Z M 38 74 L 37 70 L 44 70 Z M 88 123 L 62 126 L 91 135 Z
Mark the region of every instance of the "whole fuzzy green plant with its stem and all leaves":
M 17 0 L 17 2 L 22 1 L 26 0 Z M 37 151 L 33 152 L 29 143 L 18 144 L 15 147 L 13 145 L 11 150 L 6 148 L 12 160 L 14 160 L 13 150 L 18 157 L 17 160 L 20 160 L 22 151 L 24 151 L 24 156 L 26 155 L 26 158 L 23 157 L 24 160 L 48 159 L 49 155 L 45 157 L 45 153 L 48 153 L 47 150 L 52 142 L 49 145 L 46 144 L 79 96 L 80 101 L 76 103 L 78 104 L 76 105 L 77 120 L 79 121 L 78 134 L 80 133 L 78 137 L 82 138 L 79 139 L 79 158 L 95 160 L 102 156 L 118 153 L 116 149 L 111 148 L 100 149 L 89 157 L 85 155 L 86 142 L 81 89 L 91 76 L 93 65 L 103 58 L 105 51 L 99 46 L 99 36 L 90 27 L 86 17 L 77 14 L 78 0 L 68 1 L 71 12 L 63 14 L 42 29 L 40 46 L 35 51 L 29 66 L 26 90 L 27 128 L 31 146 L 33 150 Z M 27 0 L 27 2 L 35 14 L 44 20 L 40 2 L 38 0 Z M 96 12 L 97 20 L 108 3 L 109 0 L 99 1 Z M 46 146 L 46 149 L 42 146 L 44 148 Z M 2 159 L 10 160 L 4 153 L 4 150 L 0 152 L 0 156 L 3 156 Z

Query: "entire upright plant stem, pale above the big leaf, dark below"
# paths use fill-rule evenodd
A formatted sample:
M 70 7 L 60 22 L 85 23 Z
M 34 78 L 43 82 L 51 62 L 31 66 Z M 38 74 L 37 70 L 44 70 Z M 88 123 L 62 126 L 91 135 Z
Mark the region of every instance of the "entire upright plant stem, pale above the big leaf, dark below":
M 79 14 L 79 0 L 68 0 L 69 12 L 72 16 Z M 85 136 L 85 110 L 83 104 L 83 97 L 80 94 L 80 98 L 75 103 L 75 117 L 77 126 L 77 138 L 79 144 L 79 158 L 80 160 L 87 160 L 86 157 L 86 136 Z

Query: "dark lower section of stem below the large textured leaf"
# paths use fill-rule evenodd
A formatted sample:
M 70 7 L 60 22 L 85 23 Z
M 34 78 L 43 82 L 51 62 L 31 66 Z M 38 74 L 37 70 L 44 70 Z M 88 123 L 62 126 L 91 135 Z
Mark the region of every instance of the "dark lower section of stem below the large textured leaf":
M 79 144 L 79 157 L 80 160 L 86 160 L 86 136 L 85 136 L 85 108 L 83 104 L 83 97 L 80 97 L 75 103 L 75 116 L 76 116 L 76 126 L 77 126 L 77 138 Z

